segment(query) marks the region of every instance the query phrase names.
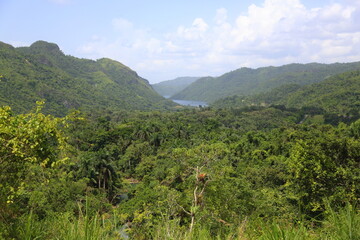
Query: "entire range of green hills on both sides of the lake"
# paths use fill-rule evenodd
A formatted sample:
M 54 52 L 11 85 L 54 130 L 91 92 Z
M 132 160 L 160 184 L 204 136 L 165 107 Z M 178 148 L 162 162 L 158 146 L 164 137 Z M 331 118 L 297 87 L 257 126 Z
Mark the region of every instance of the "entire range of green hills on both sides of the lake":
M 360 62 L 289 64 L 241 68 L 216 78 L 181 77 L 151 86 L 111 59 L 68 56 L 45 41 L 20 48 L 0 42 L 0 106 L 9 105 L 22 113 L 44 99 L 45 112 L 56 116 L 70 109 L 173 109 L 176 104 L 161 94 L 205 101 L 214 107 L 277 104 L 349 114 L 360 108 L 359 71 Z

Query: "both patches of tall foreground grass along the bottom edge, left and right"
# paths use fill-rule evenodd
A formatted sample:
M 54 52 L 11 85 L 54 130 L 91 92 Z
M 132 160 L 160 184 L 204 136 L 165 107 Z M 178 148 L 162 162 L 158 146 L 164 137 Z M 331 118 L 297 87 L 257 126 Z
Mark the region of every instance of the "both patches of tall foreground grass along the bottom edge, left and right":
M 101 240 L 127 239 L 121 231 L 122 226 L 114 216 L 100 216 L 89 213 L 89 205 L 79 215 L 72 213 L 53 214 L 41 221 L 32 211 L 19 219 L 16 228 L 16 239 L 61 239 L 61 240 Z M 214 233 L 206 226 L 196 226 L 189 231 L 181 226 L 180 219 L 164 218 L 155 226 L 152 236 L 146 239 L 156 240 L 359 240 L 360 214 L 354 206 L 347 204 L 335 211 L 327 207 L 325 220 L 316 227 L 292 225 L 280 222 L 263 222 L 256 218 L 255 222 L 244 220 L 237 228 L 232 226 L 222 233 Z M 309 225 L 311 226 L 311 225 Z M 124 237 L 125 236 L 125 237 Z M 1 237 L 0 237 L 1 239 Z M 131 239 L 131 238 L 130 238 Z M 144 238 L 145 239 L 145 238 Z

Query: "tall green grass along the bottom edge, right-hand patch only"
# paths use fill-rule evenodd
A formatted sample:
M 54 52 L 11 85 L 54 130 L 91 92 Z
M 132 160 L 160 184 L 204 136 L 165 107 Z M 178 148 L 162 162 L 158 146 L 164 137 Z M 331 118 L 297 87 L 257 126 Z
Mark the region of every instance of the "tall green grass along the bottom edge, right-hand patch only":
M 308 227 L 306 227 L 308 226 Z M 215 234 L 204 226 L 197 226 L 193 232 L 182 228 L 178 220 L 167 220 L 156 228 L 156 240 L 360 240 L 360 212 L 351 204 L 339 211 L 327 207 L 325 220 L 307 224 L 290 224 L 286 221 L 273 223 L 257 218 L 244 221 L 238 229 L 228 233 Z

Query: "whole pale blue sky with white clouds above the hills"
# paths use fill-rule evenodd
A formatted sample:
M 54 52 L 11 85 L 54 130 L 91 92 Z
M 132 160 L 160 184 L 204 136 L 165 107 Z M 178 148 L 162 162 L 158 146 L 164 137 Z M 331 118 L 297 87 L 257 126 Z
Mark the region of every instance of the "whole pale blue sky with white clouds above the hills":
M 360 0 L 0 0 L 0 41 L 117 60 L 156 83 L 360 61 Z

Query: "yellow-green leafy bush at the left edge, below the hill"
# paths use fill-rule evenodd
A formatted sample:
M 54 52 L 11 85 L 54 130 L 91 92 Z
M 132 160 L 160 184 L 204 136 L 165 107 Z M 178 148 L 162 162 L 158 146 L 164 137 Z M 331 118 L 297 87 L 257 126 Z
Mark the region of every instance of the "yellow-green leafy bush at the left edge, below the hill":
M 0 109 L 0 164 L 3 173 L 1 182 L 1 206 L 10 204 L 26 188 L 24 181 L 29 168 L 38 167 L 41 172 L 54 168 L 66 161 L 62 156 L 65 148 L 65 136 L 58 127 L 66 124 L 66 119 L 45 116 L 40 113 L 39 103 L 34 113 L 13 115 L 10 107 Z M 46 182 L 46 174 L 39 174 L 38 181 Z

